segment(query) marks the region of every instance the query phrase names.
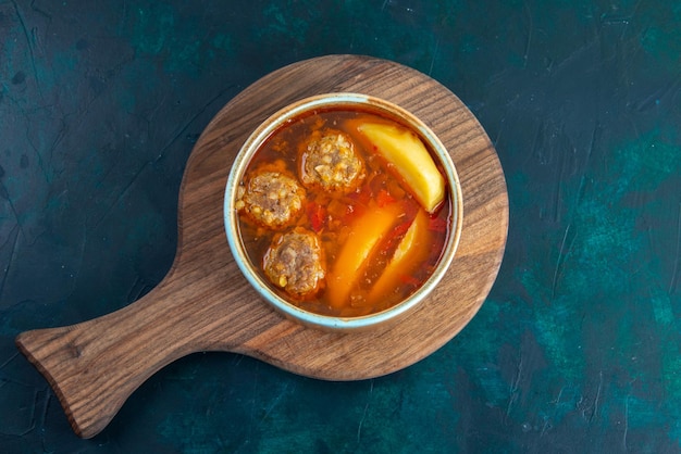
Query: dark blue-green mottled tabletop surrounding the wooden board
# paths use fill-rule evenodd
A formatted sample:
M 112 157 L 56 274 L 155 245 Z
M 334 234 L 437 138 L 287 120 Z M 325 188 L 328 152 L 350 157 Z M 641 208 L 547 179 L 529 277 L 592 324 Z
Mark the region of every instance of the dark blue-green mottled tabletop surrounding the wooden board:
M 14 337 L 153 288 L 210 118 L 329 53 L 429 74 L 487 130 L 511 215 L 488 300 L 380 379 L 188 356 L 78 439 Z M 679 55 L 674 0 L 0 2 L 0 451 L 680 452 Z

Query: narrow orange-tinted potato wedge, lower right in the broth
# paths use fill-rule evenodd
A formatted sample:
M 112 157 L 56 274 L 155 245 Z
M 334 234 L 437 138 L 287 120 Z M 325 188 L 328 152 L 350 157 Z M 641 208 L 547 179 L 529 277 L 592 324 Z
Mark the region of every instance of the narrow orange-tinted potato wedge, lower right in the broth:
M 397 245 L 393 257 L 371 287 L 367 301 L 371 304 L 385 300 L 405 276 L 411 275 L 428 256 L 431 243 L 428 214 L 419 210 L 409 229 Z

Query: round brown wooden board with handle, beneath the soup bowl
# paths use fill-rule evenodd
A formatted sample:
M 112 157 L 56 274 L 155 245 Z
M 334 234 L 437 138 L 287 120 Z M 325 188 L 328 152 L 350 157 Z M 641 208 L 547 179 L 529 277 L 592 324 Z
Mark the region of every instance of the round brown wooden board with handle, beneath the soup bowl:
M 224 234 L 227 174 L 250 131 L 290 102 L 339 91 L 380 97 L 420 117 L 449 150 L 463 194 L 461 239 L 443 281 L 408 318 L 371 332 L 324 332 L 284 319 L 240 275 Z M 153 373 L 194 352 L 243 353 L 326 380 L 377 377 L 420 361 L 483 304 L 504 255 L 508 197 L 488 137 L 447 88 L 394 62 L 330 55 L 271 73 L 215 115 L 185 169 L 178 229 L 173 266 L 146 297 L 94 320 L 16 339 L 83 438 L 100 432 Z

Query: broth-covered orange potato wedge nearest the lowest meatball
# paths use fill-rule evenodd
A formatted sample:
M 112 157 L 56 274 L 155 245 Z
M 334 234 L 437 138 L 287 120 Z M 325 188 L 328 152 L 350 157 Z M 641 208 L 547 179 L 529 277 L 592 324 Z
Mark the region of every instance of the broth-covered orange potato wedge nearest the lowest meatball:
M 393 203 L 369 211 L 352 223 L 334 267 L 326 276 L 326 294 L 333 307 L 349 305 L 350 292 L 357 286 L 372 252 L 391 231 L 399 214 L 399 205 Z

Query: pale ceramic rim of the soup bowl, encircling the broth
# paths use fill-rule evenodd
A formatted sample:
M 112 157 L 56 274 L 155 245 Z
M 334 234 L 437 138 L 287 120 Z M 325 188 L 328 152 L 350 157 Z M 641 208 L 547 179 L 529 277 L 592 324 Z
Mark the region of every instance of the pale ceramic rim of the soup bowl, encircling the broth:
M 260 277 L 257 268 L 248 258 L 239 235 L 238 213 L 235 206 L 236 189 L 252 155 L 259 149 L 260 144 L 267 141 L 272 134 L 292 118 L 296 118 L 304 113 L 317 109 L 343 109 L 344 106 L 361 106 L 370 112 L 379 111 L 417 133 L 421 140 L 425 141 L 429 148 L 434 152 L 436 160 L 439 161 L 438 164 L 441 164 L 441 168 L 445 174 L 451 204 L 451 213 L 449 216 L 450 234 L 439 261 L 437 262 L 437 266 L 431 276 L 404 301 L 384 311 L 358 317 L 339 317 L 306 311 L 286 301 L 286 299 L 273 291 L 268 282 Z M 251 287 L 253 287 L 271 306 L 285 317 L 301 323 L 305 326 L 332 331 L 355 331 L 397 320 L 416 308 L 435 289 L 447 273 L 458 249 L 463 222 L 463 198 L 459 176 L 451 160 L 451 155 L 435 133 L 420 118 L 408 110 L 379 97 L 358 92 L 329 92 L 302 98 L 287 104 L 267 117 L 249 135 L 239 148 L 232 164 L 232 168 L 230 169 L 224 192 L 223 218 L 230 250 L 239 270 Z

